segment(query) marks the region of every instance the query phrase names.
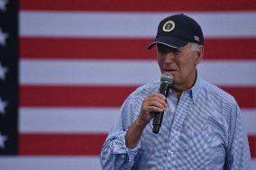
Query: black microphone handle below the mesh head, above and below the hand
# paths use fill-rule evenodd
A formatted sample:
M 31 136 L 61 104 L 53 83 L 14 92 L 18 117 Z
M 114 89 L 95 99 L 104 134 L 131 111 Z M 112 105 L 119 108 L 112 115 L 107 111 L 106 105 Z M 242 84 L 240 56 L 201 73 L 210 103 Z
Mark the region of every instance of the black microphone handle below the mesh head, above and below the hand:
M 166 97 L 169 94 L 169 87 L 170 85 L 166 82 L 162 82 L 160 84 L 160 94 L 165 95 Z M 154 114 L 154 119 L 153 119 L 153 133 L 158 134 L 159 130 L 160 130 L 160 125 L 161 125 L 161 121 L 163 118 L 163 114 L 164 112 L 153 112 Z

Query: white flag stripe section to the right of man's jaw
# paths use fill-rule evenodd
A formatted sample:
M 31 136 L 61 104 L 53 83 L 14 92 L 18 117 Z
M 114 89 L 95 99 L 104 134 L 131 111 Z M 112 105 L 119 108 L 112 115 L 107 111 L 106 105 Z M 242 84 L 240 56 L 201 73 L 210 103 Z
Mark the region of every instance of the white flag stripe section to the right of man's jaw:
M 203 61 L 198 66 L 199 76 L 215 85 L 256 85 L 256 60 Z

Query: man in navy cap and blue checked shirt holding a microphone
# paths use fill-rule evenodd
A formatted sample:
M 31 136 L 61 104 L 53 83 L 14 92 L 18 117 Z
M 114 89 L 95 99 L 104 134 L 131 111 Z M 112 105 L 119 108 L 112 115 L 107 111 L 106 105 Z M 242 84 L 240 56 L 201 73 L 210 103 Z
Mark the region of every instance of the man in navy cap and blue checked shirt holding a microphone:
M 197 77 L 204 54 L 201 27 L 184 14 L 163 19 L 154 42 L 160 71 L 173 76 L 139 87 L 123 103 L 101 153 L 103 169 L 250 169 L 241 112 L 233 96 Z M 164 112 L 159 134 L 153 112 Z

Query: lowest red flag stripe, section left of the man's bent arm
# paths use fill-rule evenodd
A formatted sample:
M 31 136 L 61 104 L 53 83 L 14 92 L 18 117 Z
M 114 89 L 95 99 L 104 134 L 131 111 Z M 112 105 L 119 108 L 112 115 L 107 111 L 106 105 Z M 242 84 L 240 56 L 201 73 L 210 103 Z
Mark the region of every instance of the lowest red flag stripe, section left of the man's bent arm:
M 19 155 L 99 155 L 106 134 L 33 134 L 19 136 Z

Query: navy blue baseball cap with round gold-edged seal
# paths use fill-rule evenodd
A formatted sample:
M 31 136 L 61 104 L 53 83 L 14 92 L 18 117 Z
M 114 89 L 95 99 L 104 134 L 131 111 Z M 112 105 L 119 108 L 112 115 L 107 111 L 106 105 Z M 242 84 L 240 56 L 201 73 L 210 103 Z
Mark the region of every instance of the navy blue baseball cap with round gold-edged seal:
M 204 35 L 200 25 L 185 14 L 174 14 L 163 19 L 158 27 L 155 40 L 149 44 L 151 49 L 155 44 L 163 44 L 179 49 L 188 42 L 204 44 Z

